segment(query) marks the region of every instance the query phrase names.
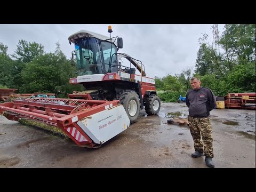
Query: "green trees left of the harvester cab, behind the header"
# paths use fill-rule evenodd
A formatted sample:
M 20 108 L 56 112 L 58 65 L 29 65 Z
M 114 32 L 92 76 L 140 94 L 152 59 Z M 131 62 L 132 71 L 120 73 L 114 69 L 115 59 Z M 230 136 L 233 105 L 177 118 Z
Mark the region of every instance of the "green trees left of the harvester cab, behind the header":
M 45 53 L 44 46 L 21 39 L 14 54 L 7 54 L 8 46 L 0 42 L 0 87 L 18 89 L 18 93 L 55 93 L 67 97 L 82 85 L 70 85 L 75 77 L 76 64 L 67 59 L 56 43 L 54 53 Z

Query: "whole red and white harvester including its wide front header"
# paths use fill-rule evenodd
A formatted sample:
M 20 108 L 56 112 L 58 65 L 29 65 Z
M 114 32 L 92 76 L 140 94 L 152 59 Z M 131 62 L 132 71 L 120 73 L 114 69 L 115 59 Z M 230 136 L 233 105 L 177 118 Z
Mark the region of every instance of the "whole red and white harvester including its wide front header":
M 117 51 L 121 37 L 110 38 L 87 30 L 68 37 L 74 43 L 73 59 L 77 77 L 70 84 L 83 84 L 85 91 L 69 94 L 69 99 L 31 98 L 0 104 L 7 119 L 20 118 L 59 127 L 78 146 L 100 147 L 138 120 L 140 109 L 155 115 L 161 107 L 154 78 L 146 77 L 141 61 Z M 75 58 L 74 58 L 75 56 Z M 125 58 L 130 66 L 119 60 Z M 138 75 L 135 71 L 138 70 Z

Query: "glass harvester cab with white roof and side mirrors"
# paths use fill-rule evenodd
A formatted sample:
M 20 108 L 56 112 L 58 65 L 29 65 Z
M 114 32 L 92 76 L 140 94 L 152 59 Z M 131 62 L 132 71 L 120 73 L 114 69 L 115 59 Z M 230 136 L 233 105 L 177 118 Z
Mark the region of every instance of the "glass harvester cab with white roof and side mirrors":
M 68 39 L 75 44 L 73 59 L 76 60 L 78 76 L 117 73 L 114 63 L 117 62 L 117 50 L 122 48 L 122 38 L 115 37 L 113 41 L 107 36 L 81 30 Z

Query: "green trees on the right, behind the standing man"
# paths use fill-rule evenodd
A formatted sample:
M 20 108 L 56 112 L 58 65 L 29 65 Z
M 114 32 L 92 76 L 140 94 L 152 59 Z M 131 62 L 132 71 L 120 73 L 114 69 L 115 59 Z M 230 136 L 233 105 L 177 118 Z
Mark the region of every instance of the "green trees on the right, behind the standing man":
M 255 92 L 255 26 L 227 24 L 212 43 L 209 35 L 203 34 L 198 39 L 200 47 L 194 67 L 174 76 L 155 77 L 157 90 L 167 91 L 160 91 L 161 99 L 170 102 L 177 101 L 180 94 L 186 96 L 192 76 L 198 76 L 201 85 L 209 87 L 217 96 Z

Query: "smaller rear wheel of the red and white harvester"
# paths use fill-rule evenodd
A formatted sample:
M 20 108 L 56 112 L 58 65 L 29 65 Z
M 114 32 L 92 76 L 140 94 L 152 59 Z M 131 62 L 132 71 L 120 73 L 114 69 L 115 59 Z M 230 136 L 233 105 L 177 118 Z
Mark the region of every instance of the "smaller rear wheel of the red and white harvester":
M 156 115 L 161 107 L 161 101 L 155 94 L 149 95 L 145 101 L 145 111 L 148 115 Z

